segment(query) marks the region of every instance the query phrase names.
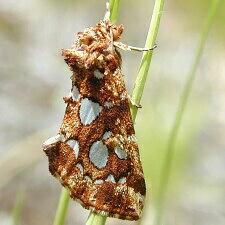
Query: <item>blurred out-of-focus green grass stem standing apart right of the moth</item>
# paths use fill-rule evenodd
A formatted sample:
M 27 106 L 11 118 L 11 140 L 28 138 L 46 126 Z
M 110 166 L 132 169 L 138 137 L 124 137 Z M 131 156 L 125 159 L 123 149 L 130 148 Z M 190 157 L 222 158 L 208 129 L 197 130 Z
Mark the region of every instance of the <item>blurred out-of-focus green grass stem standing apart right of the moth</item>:
M 206 39 L 208 37 L 210 28 L 212 26 L 212 23 L 215 18 L 220 2 L 222 2 L 222 0 L 212 0 L 212 3 L 209 7 L 208 15 L 205 20 L 203 30 L 201 32 L 200 39 L 197 45 L 194 61 L 190 68 L 190 72 L 187 75 L 187 80 L 185 82 L 183 91 L 180 96 L 179 104 L 178 104 L 176 115 L 175 115 L 175 120 L 174 120 L 172 129 L 169 135 L 169 139 L 168 139 L 165 161 L 163 162 L 162 171 L 160 175 L 159 192 L 158 192 L 159 196 L 156 202 L 156 215 L 155 215 L 155 220 L 153 223 L 154 225 L 162 224 L 163 208 L 164 208 L 165 199 L 166 199 L 168 182 L 171 175 L 171 168 L 172 168 L 173 158 L 175 154 L 174 151 L 175 151 L 177 135 L 181 126 L 185 108 L 187 106 L 188 98 L 190 96 L 190 93 L 193 87 L 196 71 L 203 53 Z

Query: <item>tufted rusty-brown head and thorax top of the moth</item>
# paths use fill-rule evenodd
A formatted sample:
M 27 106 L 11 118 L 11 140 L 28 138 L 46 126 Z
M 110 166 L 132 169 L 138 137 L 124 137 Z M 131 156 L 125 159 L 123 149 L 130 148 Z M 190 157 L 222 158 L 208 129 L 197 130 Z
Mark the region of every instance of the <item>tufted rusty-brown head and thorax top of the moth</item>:
M 78 40 L 71 49 L 63 50 L 66 63 L 73 71 L 76 68 L 105 67 L 114 70 L 121 63 L 121 59 L 119 53 L 114 50 L 113 41 L 118 41 L 122 32 L 122 25 L 112 25 L 106 21 L 86 28 L 78 33 Z

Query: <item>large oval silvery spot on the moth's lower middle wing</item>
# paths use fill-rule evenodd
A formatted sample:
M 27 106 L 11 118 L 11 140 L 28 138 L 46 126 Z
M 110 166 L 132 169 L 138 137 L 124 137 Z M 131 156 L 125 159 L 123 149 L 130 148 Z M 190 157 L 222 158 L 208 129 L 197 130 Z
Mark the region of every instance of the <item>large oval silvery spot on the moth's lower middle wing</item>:
M 90 161 L 99 169 L 106 166 L 108 161 L 108 148 L 102 141 L 96 141 L 90 148 L 89 158 Z

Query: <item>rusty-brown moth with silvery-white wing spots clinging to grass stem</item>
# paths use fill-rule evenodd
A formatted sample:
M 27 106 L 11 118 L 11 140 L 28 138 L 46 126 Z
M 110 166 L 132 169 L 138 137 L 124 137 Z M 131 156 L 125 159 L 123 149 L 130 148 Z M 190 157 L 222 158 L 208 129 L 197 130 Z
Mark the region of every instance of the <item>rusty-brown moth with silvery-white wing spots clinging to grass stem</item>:
M 72 89 L 58 135 L 43 149 L 51 174 L 74 200 L 105 216 L 137 220 L 146 188 L 121 72 L 122 32 L 105 19 L 62 51 Z

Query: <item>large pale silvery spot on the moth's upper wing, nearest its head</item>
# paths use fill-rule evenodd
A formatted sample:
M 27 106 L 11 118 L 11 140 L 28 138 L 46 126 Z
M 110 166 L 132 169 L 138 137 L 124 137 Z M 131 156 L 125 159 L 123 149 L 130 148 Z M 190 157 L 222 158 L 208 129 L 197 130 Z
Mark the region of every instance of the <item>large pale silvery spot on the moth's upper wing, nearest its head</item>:
M 102 106 L 92 102 L 88 98 L 84 98 L 80 105 L 80 120 L 84 125 L 91 124 L 102 111 Z

